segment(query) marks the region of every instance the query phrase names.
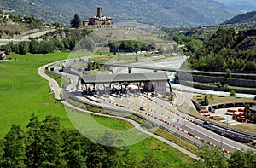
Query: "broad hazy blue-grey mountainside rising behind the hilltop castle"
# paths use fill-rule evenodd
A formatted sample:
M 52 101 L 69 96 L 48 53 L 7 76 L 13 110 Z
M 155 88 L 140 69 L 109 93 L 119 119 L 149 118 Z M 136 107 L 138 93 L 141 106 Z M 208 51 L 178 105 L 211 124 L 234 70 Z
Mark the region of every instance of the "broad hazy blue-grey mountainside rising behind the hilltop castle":
M 20 8 L 14 2 L 27 6 Z M 29 11 L 36 16 L 44 9 L 38 17 L 52 20 L 56 20 L 59 14 L 65 15 L 68 19 L 60 22 L 66 24 L 76 13 L 81 20 L 96 15 L 97 6 L 102 6 L 103 14 L 111 16 L 114 24 L 131 22 L 154 26 L 212 26 L 240 14 L 214 0 L 11 0 L 2 4 L 21 14 Z M 49 14 L 45 12 L 46 9 L 51 10 Z

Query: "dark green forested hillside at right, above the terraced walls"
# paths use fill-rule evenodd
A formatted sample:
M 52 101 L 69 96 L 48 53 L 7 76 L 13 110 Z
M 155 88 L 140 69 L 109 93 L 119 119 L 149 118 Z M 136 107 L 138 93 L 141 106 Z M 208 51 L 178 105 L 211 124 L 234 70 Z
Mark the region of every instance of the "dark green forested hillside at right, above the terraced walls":
M 219 27 L 189 59 L 190 67 L 204 71 L 256 71 L 256 29 Z

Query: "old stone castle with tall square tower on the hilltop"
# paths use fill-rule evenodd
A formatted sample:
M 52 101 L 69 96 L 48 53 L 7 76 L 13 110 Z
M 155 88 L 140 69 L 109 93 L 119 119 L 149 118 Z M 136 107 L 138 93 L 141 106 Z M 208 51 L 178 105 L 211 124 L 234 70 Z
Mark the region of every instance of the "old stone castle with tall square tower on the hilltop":
M 97 15 L 83 21 L 83 26 L 108 27 L 111 26 L 112 18 L 103 15 L 102 7 L 97 7 Z

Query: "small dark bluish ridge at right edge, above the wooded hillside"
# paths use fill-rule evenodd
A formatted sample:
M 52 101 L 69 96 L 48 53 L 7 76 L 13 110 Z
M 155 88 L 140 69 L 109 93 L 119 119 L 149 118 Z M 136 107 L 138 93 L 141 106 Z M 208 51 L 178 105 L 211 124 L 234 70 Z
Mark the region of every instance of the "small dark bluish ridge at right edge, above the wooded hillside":
M 223 25 L 226 24 L 237 24 L 237 23 L 251 23 L 256 22 L 256 11 L 247 12 L 246 14 L 239 14 L 230 20 L 226 20 Z

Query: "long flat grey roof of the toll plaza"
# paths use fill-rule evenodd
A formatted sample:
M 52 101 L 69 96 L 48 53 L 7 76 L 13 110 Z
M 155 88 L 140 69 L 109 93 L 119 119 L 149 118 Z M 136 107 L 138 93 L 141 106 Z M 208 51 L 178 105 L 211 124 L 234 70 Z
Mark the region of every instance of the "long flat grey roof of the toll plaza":
M 125 73 L 109 75 L 83 75 L 86 84 L 109 84 L 114 82 L 169 81 L 166 73 Z

